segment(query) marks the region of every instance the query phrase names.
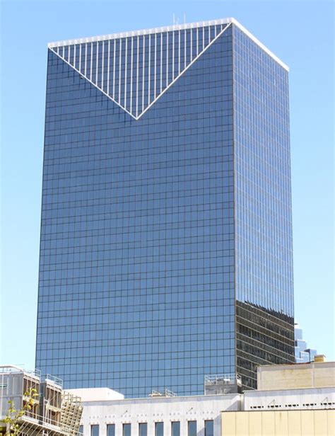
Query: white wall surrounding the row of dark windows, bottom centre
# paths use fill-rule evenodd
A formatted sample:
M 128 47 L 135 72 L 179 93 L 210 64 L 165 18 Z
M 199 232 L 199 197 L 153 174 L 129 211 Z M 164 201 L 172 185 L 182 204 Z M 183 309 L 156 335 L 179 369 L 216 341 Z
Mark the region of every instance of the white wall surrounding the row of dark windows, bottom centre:
M 76 394 L 76 389 L 72 392 Z M 197 421 L 197 435 L 204 436 L 204 421 L 214 421 L 214 436 L 221 435 L 221 411 L 237 411 L 240 395 L 136 398 L 83 402 L 83 433 L 90 436 L 90 425 L 100 425 L 99 436 L 106 436 L 106 425 L 115 424 L 115 435 L 122 436 L 122 424 L 131 423 L 131 436 L 139 435 L 139 423 L 148 423 L 148 436 L 155 435 L 155 422 L 164 423 L 164 436 L 171 435 L 171 422 L 180 421 L 180 435 L 187 436 L 187 421 Z M 87 398 L 87 397 L 86 397 Z

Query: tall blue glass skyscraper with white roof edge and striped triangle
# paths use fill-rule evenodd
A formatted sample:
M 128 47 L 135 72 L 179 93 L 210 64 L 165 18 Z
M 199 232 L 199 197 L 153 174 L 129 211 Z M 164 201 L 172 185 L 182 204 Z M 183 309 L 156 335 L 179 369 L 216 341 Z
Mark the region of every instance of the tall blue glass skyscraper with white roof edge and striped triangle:
M 49 44 L 37 368 L 146 396 L 294 362 L 288 115 L 234 19 Z

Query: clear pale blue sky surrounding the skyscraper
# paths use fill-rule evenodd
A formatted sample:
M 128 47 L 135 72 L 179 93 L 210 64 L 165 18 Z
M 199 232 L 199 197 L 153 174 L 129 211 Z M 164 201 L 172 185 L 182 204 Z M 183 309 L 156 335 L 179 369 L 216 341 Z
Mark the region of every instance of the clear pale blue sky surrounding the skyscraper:
M 334 356 L 332 1 L 1 4 L 1 355 L 35 364 L 47 42 L 235 17 L 290 67 L 295 318 Z

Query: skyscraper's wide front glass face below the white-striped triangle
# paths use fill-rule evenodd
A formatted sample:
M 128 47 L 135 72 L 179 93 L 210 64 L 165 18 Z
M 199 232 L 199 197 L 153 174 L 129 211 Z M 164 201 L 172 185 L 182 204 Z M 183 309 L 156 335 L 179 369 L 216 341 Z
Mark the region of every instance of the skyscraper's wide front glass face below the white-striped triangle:
M 49 52 L 37 367 L 200 394 L 235 372 L 229 28 L 135 121 Z

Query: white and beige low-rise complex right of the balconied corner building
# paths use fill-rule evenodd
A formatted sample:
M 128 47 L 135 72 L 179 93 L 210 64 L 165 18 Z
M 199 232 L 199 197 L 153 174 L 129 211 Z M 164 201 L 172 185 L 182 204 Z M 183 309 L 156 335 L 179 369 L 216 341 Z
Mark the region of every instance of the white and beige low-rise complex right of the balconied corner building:
M 334 362 L 259 367 L 259 386 L 264 390 L 244 393 L 211 394 L 213 377 L 211 389 L 205 385 L 206 395 L 201 396 L 165 391 L 148 398 L 123 398 L 111 389 L 72 392 L 83 401 L 84 436 L 268 436 L 295 435 L 297 429 L 296 435 L 330 435 L 334 368 Z M 216 391 L 221 391 L 220 383 L 228 389 L 227 382 L 216 377 Z M 305 433 L 307 424 L 294 426 L 296 420 L 309 423 L 316 433 Z M 322 433 L 324 428 L 328 433 Z

